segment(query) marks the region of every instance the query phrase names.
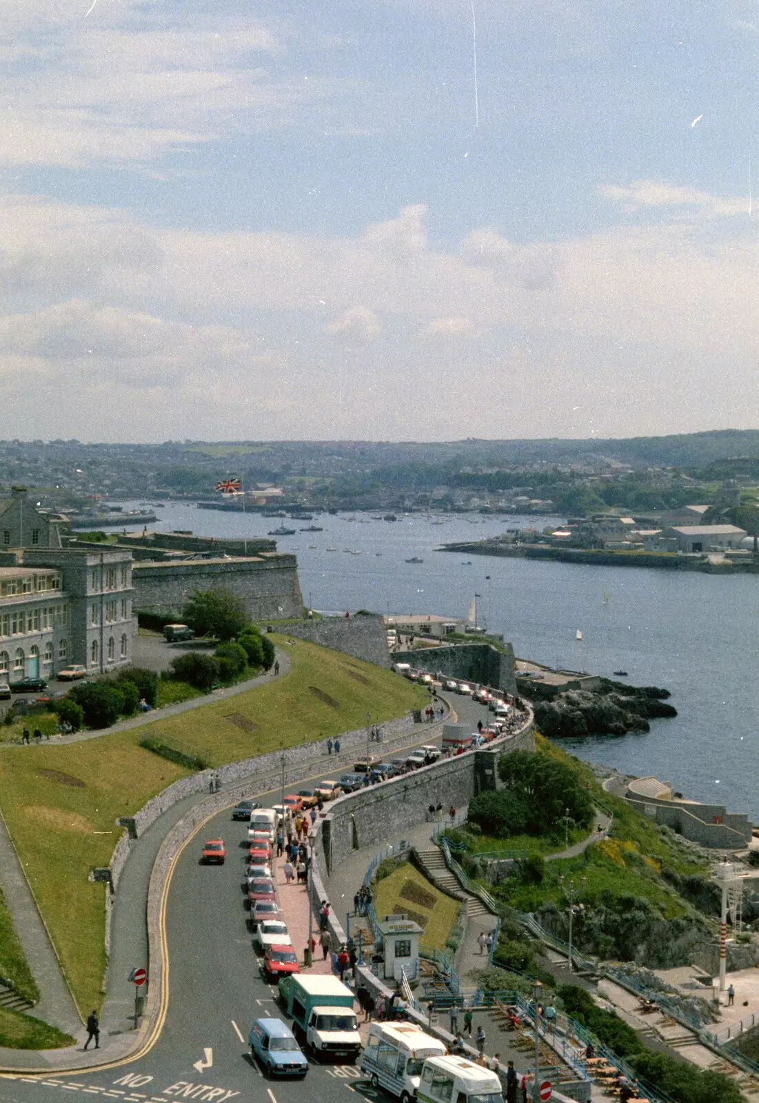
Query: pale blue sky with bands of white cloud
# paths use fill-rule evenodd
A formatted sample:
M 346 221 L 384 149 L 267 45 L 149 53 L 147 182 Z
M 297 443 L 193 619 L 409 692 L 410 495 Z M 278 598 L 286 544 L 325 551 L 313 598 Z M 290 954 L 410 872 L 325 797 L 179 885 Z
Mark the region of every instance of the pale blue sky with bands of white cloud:
M 759 0 L 0 19 L 0 438 L 759 426 Z

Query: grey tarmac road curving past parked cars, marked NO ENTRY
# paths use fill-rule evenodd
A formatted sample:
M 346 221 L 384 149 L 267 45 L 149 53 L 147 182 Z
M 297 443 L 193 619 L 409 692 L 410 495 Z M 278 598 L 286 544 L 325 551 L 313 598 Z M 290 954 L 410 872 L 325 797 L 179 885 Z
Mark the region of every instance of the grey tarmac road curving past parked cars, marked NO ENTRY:
M 471 698 L 456 698 L 455 707 L 472 726 L 488 715 Z M 267 805 L 277 803 L 280 791 L 252 795 Z M 227 860 L 201 866 L 203 842 L 213 837 L 224 838 Z M 169 1009 L 150 1052 L 107 1069 L 0 1080 L 2 1103 L 55 1103 L 62 1096 L 122 1103 L 357 1103 L 357 1094 L 391 1099 L 373 1090 L 354 1065 L 311 1061 L 304 1080 L 279 1082 L 264 1079 L 252 1061 L 252 1022 L 261 1015 L 281 1018 L 282 1013 L 260 976 L 252 945 L 243 891 L 246 850 L 247 824 L 232 821 L 226 811 L 179 858 L 167 910 Z M 207 1058 L 212 1063 L 204 1068 Z

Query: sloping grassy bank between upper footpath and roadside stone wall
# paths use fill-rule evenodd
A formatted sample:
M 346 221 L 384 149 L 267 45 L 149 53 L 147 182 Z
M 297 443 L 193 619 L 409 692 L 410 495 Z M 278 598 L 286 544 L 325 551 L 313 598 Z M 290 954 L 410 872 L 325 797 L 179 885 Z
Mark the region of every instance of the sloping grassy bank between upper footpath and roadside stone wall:
M 221 765 L 359 728 L 367 711 L 382 722 L 427 699 L 389 671 L 304 641 L 277 642 L 290 672 L 255 689 L 130 731 L 0 752 L 0 808 L 79 1008 L 99 1006 L 106 964 L 105 887 L 89 872 L 109 864 L 117 818 L 189 772 L 140 739 Z

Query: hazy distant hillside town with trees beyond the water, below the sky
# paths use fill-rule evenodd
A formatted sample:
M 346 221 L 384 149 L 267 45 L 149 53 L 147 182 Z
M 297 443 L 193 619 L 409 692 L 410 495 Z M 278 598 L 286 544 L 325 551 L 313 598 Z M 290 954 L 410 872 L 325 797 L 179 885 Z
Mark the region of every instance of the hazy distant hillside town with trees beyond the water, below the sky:
M 0 441 L 6 493 L 28 485 L 47 507 L 213 500 L 216 483 L 228 478 L 240 480 L 252 507 L 588 514 L 699 502 L 727 510 L 759 495 L 759 430 L 431 443 Z

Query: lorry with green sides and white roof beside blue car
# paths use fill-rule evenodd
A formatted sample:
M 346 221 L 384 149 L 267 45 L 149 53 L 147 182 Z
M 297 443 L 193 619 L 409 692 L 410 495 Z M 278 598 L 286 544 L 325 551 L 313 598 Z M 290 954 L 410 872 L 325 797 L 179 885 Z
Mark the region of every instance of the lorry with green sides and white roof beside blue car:
M 292 1032 L 317 1057 L 354 1061 L 361 1036 L 353 993 L 336 976 L 293 974 L 279 982 L 279 998 L 292 1019 Z

